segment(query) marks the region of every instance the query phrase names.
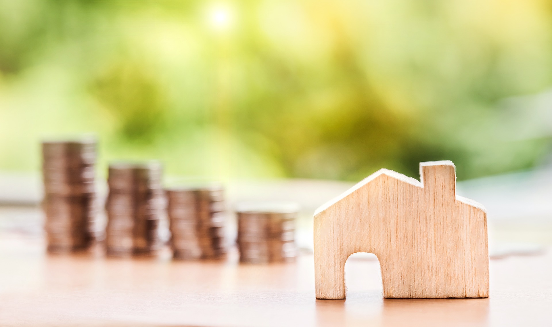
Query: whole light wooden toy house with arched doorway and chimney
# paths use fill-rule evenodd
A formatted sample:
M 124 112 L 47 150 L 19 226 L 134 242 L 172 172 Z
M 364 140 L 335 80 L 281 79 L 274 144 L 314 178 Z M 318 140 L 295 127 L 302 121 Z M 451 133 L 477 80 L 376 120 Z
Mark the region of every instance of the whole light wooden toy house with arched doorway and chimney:
M 422 162 L 420 176 L 382 169 L 316 210 L 316 298 L 345 298 L 355 252 L 378 257 L 385 298 L 489 297 L 485 209 L 456 195 L 452 162 Z

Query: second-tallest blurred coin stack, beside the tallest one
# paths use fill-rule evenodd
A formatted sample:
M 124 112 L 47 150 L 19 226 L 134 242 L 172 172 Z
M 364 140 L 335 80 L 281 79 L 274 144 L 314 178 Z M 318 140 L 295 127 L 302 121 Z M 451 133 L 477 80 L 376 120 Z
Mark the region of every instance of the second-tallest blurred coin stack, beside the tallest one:
M 158 161 L 109 165 L 107 212 L 108 255 L 155 255 L 163 247 L 166 199 L 163 167 Z

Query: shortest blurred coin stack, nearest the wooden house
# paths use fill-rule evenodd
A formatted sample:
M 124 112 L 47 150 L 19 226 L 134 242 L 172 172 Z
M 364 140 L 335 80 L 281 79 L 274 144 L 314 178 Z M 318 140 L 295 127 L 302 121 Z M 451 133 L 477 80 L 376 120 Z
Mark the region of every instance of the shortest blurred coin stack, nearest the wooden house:
M 297 256 L 294 203 L 242 203 L 237 206 L 240 261 L 290 262 Z

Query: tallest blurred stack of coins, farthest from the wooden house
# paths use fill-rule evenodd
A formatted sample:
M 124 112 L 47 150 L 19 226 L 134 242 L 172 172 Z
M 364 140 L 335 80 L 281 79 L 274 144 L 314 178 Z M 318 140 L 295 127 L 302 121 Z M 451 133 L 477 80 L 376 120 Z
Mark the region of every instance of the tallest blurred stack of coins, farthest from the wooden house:
M 87 249 L 102 237 L 94 186 L 96 141 L 44 141 L 42 152 L 47 250 Z

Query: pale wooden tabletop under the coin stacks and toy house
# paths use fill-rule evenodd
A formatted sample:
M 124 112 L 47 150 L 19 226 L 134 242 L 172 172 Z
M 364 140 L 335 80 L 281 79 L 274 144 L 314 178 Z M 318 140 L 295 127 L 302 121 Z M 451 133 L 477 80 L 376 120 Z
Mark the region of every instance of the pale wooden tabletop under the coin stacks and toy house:
M 489 299 L 388 300 L 376 260 L 347 261 L 347 299 L 316 300 L 312 256 L 296 263 L 46 255 L 0 234 L 1 326 L 551 326 L 552 255 L 491 260 Z

